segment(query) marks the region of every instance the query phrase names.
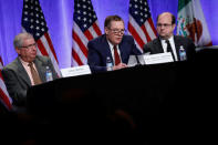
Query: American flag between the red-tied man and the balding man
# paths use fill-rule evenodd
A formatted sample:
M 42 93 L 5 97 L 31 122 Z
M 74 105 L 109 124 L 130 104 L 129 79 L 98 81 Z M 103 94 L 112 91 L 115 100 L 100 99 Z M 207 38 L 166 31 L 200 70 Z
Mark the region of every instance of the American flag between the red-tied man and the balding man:
M 147 0 L 129 0 L 128 11 L 128 32 L 143 52 L 143 45 L 157 37 Z

